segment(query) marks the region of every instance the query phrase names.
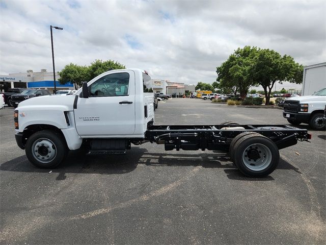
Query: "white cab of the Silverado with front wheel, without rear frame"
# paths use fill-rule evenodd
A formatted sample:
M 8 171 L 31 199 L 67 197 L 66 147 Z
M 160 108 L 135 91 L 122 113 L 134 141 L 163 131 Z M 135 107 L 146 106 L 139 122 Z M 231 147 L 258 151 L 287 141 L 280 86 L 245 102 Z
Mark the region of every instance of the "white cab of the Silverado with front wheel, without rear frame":
M 150 80 L 144 70 L 112 70 L 84 83 L 75 95 L 22 101 L 14 115 L 17 144 L 41 167 L 58 165 L 68 149 L 83 142 L 90 154 L 123 153 L 153 124 L 154 96 L 143 92 Z

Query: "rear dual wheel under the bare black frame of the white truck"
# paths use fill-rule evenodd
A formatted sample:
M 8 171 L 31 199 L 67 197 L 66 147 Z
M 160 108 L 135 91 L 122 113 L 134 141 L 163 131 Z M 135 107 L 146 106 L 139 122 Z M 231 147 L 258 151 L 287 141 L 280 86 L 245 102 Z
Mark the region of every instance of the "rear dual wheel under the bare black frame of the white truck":
M 243 136 L 234 144 L 233 149 L 235 151 L 234 164 L 247 177 L 269 175 L 275 170 L 280 160 L 277 145 L 262 135 Z

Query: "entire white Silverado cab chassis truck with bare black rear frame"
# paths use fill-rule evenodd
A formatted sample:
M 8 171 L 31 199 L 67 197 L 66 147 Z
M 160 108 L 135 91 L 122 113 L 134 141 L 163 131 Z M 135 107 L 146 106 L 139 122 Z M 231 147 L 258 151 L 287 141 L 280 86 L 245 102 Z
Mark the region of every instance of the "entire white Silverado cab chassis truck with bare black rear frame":
M 226 151 L 244 175 L 262 177 L 277 167 L 279 149 L 311 138 L 306 129 L 282 125 L 153 125 L 154 96 L 143 92 L 150 80 L 144 70 L 111 70 L 75 95 L 23 101 L 14 111 L 16 142 L 43 168 L 82 146 L 89 155 L 125 154 L 131 144 L 151 142 L 166 151 Z

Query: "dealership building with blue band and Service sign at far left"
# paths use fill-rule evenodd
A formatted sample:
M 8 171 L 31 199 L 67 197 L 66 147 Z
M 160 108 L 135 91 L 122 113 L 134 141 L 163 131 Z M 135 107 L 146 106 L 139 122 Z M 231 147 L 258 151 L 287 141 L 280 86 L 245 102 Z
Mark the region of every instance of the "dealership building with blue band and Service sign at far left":
M 58 78 L 60 76 L 56 72 L 57 90 L 74 89 L 73 84 L 70 82 L 64 85 L 60 84 Z M 46 69 L 37 72 L 27 70 L 26 72 L 10 73 L 9 75 L 0 75 L 0 92 L 7 92 L 9 88 L 40 88 L 53 93 L 53 82 L 53 72 L 47 72 Z

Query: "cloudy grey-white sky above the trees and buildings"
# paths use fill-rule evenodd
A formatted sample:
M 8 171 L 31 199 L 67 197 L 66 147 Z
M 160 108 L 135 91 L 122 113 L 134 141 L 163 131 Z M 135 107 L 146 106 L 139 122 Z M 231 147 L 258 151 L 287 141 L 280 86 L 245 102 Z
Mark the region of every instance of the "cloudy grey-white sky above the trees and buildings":
M 64 29 L 53 30 L 56 70 L 111 59 L 154 79 L 211 83 L 245 45 L 326 62 L 325 1 L 0 0 L 0 9 L 1 75 L 51 71 L 50 25 Z

